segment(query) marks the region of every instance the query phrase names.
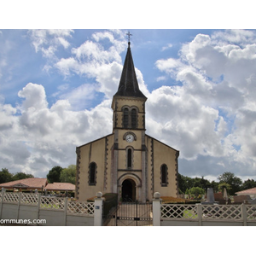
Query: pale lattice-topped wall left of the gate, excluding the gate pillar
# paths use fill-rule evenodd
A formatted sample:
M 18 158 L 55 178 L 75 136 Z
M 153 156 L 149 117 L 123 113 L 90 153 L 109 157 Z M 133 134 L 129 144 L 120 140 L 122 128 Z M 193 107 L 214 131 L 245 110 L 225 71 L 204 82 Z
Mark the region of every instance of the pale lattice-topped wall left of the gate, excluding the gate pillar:
M 40 194 L 4 192 L 0 194 L 0 224 L 94 225 L 94 202 Z

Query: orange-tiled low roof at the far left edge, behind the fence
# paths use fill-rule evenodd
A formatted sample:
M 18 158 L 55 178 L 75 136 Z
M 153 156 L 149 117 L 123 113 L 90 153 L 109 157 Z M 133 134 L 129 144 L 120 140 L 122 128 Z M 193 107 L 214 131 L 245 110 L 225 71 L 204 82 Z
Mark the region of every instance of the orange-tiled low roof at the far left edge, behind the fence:
M 47 178 L 44 177 L 27 177 L 19 180 L 15 180 L 9 183 L 1 183 L 0 187 L 4 188 L 38 188 L 42 189 L 47 184 Z

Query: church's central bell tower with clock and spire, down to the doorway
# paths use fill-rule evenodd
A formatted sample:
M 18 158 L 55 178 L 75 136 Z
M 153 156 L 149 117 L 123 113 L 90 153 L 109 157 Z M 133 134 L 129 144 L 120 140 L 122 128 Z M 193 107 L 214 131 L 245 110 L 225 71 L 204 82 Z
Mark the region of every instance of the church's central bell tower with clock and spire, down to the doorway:
M 127 192 L 127 195 L 133 195 L 132 200 L 136 198 L 139 201 L 146 201 L 148 196 L 145 146 L 146 101 L 147 97 L 143 95 L 137 83 L 129 40 L 119 88 L 112 102 L 114 136 L 112 177 L 113 191 L 118 190 L 122 197 Z M 131 185 L 132 193 L 127 188 L 127 183 Z

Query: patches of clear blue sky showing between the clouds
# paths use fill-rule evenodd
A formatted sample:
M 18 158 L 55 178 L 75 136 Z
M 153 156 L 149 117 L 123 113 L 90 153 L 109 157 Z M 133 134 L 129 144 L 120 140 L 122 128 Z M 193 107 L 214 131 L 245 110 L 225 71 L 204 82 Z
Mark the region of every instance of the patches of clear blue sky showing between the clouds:
M 75 30 L 68 35 L 68 48 L 58 46 L 55 50 L 55 58 L 68 58 L 70 56 L 70 49 L 78 48 L 86 40 L 91 40 L 91 37 L 96 32 L 105 32 L 105 30 Z M 123 37 L 127 30 L 123 30 Z M 163 75 L 159 69 L 155 68 L 154 62 L 165 58 L 166 55 L 177 58 L 178 50 L 183 42 L 189 42 L 195 38 L 197 33 L 210 34 L 212 30 L 168 30 L 168 29 L 134 29 L 131 31 L 132 53 L 136 56 L 137 68 L 143 73 L 147 74 L 148 90 L 154 90 L 162 85 L 161 80 L 157 78 Z M 34 41 L 33 41 L 34 39 Z M 31 81 L 36 84 L 44 84 L 44 89 L 49 97 L 49 104 L 55 102 L 55 96 L 58 86 L 64 84 L 72 84 L 72 88 L 79 87 L 85 81 L 84 76 L 72 74 L 71 77 L 64 78 L 62 73 L 56 72 L 51 67 L 47 71 L 47 66 L 51 65 L 54 60 L 44 56 L 42 50 L 50 47 L 50 42 L 44 42 L 39 47 L 36 46 L 39 41 L 37 38 L 32 38 L 32 33 L 20 30 L 2 30 L 1 32 L 1 57 L 3 60 L 9 60 L 6 65 L 2 65 L 2 81 L 1 91 L 5 97 L 5 103 L 15 104 L 20 102 L 17 91 L 14 88 L 23 88 L 24 84 Z M 49 35 L 49 41 L 54 40 L 54 37 Z M 170 43 L 172 42 L 172 43 Z M 53 42 L 52 42 L 53 43 Z M 33 44 L 35 45 L 33 47 Z M 101 42 L 105 49 L 111 46 L 108 39 L 103 39 Z M 38 47 L 38 49 L 36 49 Z M 42 47 L 42 48 L 41 48 Z M 120 52 L 122 60 L 125 58 L 125 48 Z M 29 55 L 29 57 L 28 57 Z M 168 83 L 176 83 L 170 77 L 166 77 Z M 70 83 L 72 81 L 72 83 Z M 94 78 L 86 78 L 86 81 L 94 83 Z M 99 95 L 100 98 L 103 95 Z M 90 102 L 90 107 L 95 107 L 99 103 L 99 98 L 95 97 Z

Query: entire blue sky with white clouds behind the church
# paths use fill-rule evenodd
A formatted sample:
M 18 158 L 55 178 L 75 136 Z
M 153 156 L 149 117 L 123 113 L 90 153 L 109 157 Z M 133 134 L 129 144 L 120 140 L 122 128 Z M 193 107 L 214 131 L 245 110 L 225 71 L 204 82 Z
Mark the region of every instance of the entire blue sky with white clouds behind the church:
M 45 177 L 112 132 L 128 30 L 0 31 L 0 168 Z M 256 31 L 131 29 L 146 133 L 179 172 L 256 179 Z

